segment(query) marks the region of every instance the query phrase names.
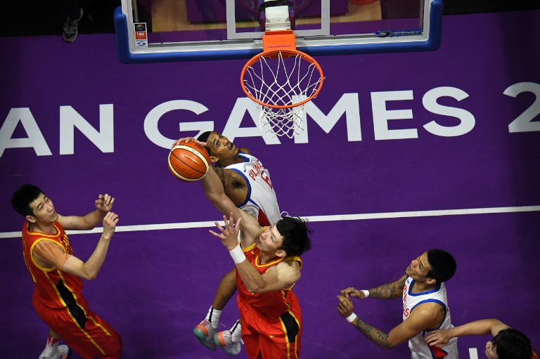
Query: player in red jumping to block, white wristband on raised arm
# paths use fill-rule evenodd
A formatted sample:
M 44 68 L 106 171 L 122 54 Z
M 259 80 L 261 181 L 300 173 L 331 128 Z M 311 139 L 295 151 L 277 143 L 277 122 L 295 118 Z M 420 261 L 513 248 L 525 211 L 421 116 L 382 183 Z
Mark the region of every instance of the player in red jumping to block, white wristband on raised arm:
M 229 220 L 224 216 L 224 228 L 216 222 L 221 233 L 210 232 L 236 263 L 237 303 L 248 357 L 299 358 L 302 313 L 291 289 L 300 279 L 299 256 L 311 249 L 306 223 L 284 216 L 273 226 L 261 228 L 225 195 L 214 171 L 208 171 L 201 183 L 214 207 L 230 214 Z

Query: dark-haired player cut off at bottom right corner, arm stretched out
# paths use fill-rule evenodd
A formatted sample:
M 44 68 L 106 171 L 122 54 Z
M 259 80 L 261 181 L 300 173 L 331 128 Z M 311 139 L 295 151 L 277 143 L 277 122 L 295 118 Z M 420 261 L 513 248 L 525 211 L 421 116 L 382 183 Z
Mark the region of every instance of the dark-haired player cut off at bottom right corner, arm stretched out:
M 425 342 L 442 348 L 452 338 L 482 334 L 493 335 L 493 339 L 486 344 L 486 356 L 489 359 L 538 359 L 525 334 L 496 319 L 476 320 L 458 327 L 438 329 L 428 333 Z

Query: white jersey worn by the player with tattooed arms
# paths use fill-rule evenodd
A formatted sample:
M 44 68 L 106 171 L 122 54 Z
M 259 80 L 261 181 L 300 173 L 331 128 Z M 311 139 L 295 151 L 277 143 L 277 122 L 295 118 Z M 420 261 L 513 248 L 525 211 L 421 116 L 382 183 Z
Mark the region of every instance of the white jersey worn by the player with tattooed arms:
M 409 348 L 411 349 L 412 359 L 457 359 L 458 358 L 458 339 L 452 338 L 444 346 L 444 348 L 437 348 L 436 346 L 428 346 L 425 343 L 425 335 L 435 329 L 448 329 L 452 327 L 450 318 L 450 309 L 448 308 L 448 298 L 446 297 L 446 286 L 441 283 L 437 288 L 428 292 L 412 293 L 411 289 L 415 280 L 411 277 L 407 277 L 405 281 L 405 287 L 403 288 L 403 320 L 406 320 L 416 306 L 422 303 L 439 303 L 446 314 L 441 325 L 436 328 L 425 329 L 416 337 L 409 340 Z

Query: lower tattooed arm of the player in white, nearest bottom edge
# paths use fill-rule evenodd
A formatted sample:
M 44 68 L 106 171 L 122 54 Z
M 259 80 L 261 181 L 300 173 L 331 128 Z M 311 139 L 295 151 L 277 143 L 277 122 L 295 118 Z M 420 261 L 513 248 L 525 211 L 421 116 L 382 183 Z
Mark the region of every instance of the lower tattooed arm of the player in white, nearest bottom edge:
M 371 296 L 371 291 L 370 291 Z M 338 311 L 343 318 L 352 315 L 354 306 L 351 299 L 345 298 L 345 296 L 338 296 L 340 303 L 338 304 Z M 414 308 L 411 311 L 409 318 L 401 322 L 397 327 L 390 330 L 389 333 L 385 333 L 382 330 L 369 325 L 360 318 L 356 317 L 352 320 L 351 324 L 359 329 L 359 331 L 366 336 L 373 343 L 377 344 L 381 348 L 394 348 L 409 339 L 416 337 L 417 334 L 425 329 L 437 328 L 444 319 L 444 308 L 438 303 L 423 303 Z

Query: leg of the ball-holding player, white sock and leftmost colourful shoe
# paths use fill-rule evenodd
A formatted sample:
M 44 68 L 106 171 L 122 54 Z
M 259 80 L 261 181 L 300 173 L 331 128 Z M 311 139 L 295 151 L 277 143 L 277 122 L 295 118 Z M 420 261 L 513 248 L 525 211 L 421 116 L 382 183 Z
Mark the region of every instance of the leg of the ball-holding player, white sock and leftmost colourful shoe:
M 236 268 L 221 279 L 216 295 L 214 296 L 214 301 L 205 319 L 193 329 L 193 334 L 200 341 L 200 344 L 203 344 L 203 346 L 206 346 L 212 351 L 215 351 L 217 348 L 214 342 L 214 334 L 216 333 L 221 311 L 223 311 L 226 304 L 231 300 L 234 292 L 236 292 Z

